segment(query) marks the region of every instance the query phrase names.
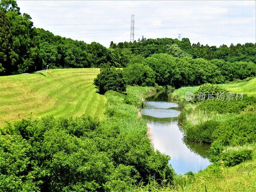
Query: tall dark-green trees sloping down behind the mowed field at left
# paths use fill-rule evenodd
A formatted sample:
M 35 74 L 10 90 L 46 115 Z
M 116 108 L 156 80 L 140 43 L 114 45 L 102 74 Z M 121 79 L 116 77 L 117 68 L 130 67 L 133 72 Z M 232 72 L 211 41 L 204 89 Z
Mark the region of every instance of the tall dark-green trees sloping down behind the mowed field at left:
M 0 21 L 1 75 L 33 72 L 45 69 L 46 65 L 50 68 L 90 68 L 104 64 L 123 67 L 116 51 L 112 53 L 99 43 L 86 44 L 33 27 L 31 17 L 21 14 L 16 1 L 1 0 Z

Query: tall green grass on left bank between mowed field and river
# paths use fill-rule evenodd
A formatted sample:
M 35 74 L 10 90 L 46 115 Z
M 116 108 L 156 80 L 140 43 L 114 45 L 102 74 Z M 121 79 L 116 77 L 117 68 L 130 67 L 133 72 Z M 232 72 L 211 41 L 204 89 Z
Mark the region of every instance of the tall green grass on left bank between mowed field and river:
M 106 124 L 118 124 L 120 132 L 147 134 L 147 122 L 139 116 L 138 108 L 143 105 L 146 93 L 154 91 L 154 87 L 128 86 L 125 94 L 108 91 Z

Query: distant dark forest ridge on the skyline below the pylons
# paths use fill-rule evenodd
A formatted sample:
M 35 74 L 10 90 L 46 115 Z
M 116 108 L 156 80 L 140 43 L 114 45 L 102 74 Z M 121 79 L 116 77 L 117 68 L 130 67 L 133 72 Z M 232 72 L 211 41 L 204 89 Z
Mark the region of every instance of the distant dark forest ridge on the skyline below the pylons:
M 225 44 L 209 46 L 198 43 L 191 44 L 188 38 L 182 40 L 172 38 L 142 39 L 132 42 L 110 42 L 112 49 L 128 49 L 134 55 L 142 55 L 147 58 L 155 53 L 168 53 L 173 56 L 190 55 L 193 59 L 203 58 L 205 60 L 221 59 L 228 62 L 246 61 L 256 64 L 256 43 L 245 43 L 243 45 Z

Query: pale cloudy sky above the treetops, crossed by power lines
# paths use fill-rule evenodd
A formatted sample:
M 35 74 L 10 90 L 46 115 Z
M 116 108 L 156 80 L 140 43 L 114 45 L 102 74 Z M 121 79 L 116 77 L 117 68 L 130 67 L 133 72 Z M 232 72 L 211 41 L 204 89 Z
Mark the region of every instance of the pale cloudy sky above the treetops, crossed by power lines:
M 24 1 L 36 28 L 109 47 L 134 40 L 189 38 L 202 45 L 256 43 L 256 1 Z

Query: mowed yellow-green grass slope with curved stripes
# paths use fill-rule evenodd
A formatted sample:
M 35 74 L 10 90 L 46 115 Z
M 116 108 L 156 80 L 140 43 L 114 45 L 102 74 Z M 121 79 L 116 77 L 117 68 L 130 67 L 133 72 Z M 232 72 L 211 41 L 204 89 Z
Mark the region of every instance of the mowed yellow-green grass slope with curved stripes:
M 104 116 L 107 99 L 96 93 L 92 84 L 99 68 L 51 69 L 50 72 L 0 77 L 1 126 L 28 118 L 31 112 L 33 118 Z

